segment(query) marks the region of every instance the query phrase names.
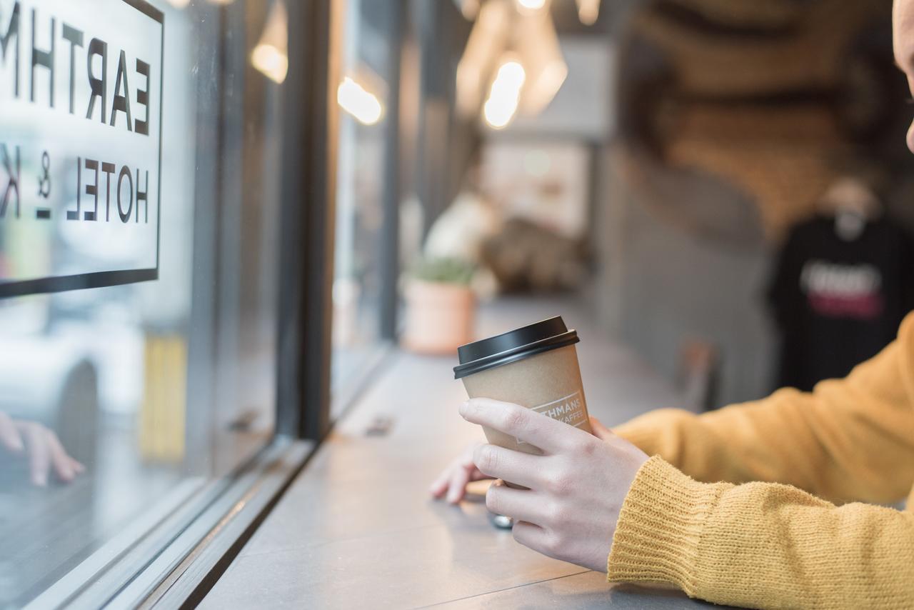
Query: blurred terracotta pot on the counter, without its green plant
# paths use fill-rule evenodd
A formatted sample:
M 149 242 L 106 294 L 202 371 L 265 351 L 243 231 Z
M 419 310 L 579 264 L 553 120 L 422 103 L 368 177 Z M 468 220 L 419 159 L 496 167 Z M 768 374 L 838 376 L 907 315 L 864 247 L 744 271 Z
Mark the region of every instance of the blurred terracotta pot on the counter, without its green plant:
M 402 345 L 422 354 L 455 354 L 473 341 L 475 296 L 469 286 L 410 280 Z

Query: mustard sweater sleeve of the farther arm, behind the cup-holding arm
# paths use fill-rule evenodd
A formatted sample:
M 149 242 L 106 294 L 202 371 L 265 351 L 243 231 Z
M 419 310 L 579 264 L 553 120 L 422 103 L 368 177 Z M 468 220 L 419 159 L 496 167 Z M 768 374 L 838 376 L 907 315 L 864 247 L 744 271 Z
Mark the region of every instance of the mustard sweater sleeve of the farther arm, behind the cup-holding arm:
M 837 502 L 894 502 L 914 484 L 914 314 L 843 380 L 702 415 L 660 410 L 615 430 L 700 481 L 777 481 Z

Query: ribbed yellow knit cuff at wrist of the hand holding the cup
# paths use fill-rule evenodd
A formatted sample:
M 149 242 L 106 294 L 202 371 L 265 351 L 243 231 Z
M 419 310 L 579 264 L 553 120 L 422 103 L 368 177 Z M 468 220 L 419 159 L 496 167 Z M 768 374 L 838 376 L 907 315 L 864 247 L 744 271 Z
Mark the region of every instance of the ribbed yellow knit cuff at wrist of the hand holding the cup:
M 629 489 L 607 560 L 607 579 L 675 584 L 694 594 L 699 542 L 727 484 L 698 483 L 654 455 Z

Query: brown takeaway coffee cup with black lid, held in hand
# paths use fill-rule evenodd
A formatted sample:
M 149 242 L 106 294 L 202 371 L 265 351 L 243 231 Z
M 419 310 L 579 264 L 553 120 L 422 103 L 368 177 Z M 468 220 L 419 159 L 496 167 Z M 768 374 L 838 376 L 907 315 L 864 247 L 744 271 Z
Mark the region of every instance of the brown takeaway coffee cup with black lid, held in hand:
M 454 378 L 470 398 L 515 402 L 560 422 L 590 432 L 580 382 L 578 333 L 561 316 L 524 326 L 457 349 Z M 528 454 L 532 444 L 483 426 L 489 443 Z

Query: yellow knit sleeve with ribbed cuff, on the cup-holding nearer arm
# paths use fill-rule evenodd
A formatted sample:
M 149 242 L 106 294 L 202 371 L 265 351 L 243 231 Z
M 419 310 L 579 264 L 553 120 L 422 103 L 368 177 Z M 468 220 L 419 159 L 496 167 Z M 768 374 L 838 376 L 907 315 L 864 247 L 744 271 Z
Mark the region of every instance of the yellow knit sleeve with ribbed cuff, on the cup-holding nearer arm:
M 914 607 L 914 514 L 774 483 L 698 483 L 654 456 L 622 504 L 610 581 L 715 604 Z

